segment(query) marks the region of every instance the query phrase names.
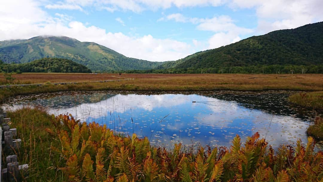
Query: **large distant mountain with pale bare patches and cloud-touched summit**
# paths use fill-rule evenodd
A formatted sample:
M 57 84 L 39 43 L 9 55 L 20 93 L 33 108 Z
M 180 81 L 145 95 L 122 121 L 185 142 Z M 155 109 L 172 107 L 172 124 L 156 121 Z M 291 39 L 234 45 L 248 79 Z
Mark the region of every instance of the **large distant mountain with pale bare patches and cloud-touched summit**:
M 80 42 L 63 36 L 0 41 L 0 60 L 5 63 L 26 63 L 54 57 L 70 59 L 92 71 L 145 70 L 154 69 L 162 64 L 128 58 L 94 42 Z

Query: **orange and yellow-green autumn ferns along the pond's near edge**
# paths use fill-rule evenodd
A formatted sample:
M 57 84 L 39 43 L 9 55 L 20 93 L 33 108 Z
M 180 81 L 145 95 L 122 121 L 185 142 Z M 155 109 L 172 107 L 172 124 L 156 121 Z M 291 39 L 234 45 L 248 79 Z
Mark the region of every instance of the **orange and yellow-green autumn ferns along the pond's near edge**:
M 53 121 L 66 165 L 60 170 L 69 181 L 321 181 L 323 152 L 314 152 L 313 138 L 307 145 L 282 145 L 276 153 L 258 133 L 244 146 L 239 135 L 231 147 L 200 147 L 197 153 L 183 152 L 181 144 L 172 151 L 152 147 L 147 138 L 115 135 L 98 123 L 81 123 L 71 115 Z

